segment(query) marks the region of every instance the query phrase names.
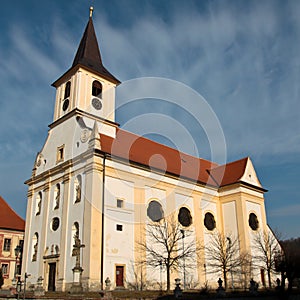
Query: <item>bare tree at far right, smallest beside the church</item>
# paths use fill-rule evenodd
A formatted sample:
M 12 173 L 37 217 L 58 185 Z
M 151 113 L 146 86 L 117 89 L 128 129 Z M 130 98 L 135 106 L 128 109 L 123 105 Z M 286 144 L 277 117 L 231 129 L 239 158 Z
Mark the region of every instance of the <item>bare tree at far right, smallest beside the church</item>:
M 269 288 L 272 286 L 271 274 L 276 271 L 280 244 L 271 230 L 260 231 L 254 236 L 253 265 L 267 271 Z

